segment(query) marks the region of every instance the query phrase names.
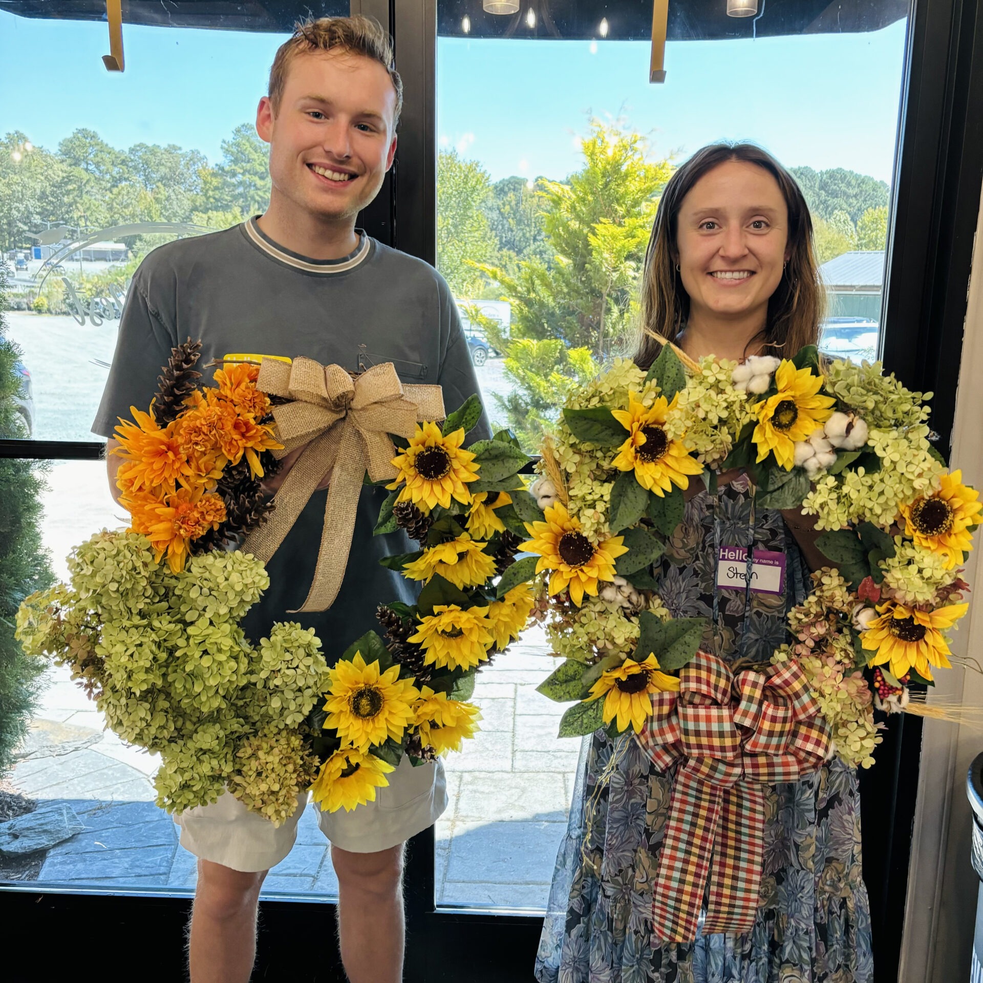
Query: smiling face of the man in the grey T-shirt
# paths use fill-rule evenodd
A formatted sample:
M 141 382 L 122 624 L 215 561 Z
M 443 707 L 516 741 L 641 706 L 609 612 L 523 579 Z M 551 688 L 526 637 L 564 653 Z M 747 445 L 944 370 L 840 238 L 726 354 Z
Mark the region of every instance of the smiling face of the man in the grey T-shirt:
M 273 195 L 328 220 L 376 197 L 396 152 L 396 90 L 371 58 L 342 50 L 296 55 L 279 107 L 260 100 Z

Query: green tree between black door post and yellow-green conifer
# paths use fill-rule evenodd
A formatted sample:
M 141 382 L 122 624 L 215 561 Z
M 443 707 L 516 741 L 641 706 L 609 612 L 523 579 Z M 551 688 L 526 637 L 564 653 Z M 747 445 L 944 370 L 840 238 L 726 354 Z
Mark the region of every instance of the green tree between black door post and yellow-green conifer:
M 492 181 L 477 160 L 447 150 L 436 160 L 436 267 L 455 297 L 478 297 L 487 280 L 475 265 L 492 262 L 495 239 L 486 205 Z

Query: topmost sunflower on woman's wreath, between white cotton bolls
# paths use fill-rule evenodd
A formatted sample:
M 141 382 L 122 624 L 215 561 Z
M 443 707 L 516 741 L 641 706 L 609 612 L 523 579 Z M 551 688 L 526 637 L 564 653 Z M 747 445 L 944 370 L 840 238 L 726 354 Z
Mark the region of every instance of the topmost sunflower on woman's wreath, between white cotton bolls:
M 833 416 L 836 400 L 822 396 L 823 376 L 811 369 L 796 369 L 782 359 L 775 372 L 779 391 L 754 407 L 758 426 L 751 439 L 758 447 L 758 462 L 775 452 L 775 459 L 785 471 L 795 463 L 795 442 L 805 440 Z

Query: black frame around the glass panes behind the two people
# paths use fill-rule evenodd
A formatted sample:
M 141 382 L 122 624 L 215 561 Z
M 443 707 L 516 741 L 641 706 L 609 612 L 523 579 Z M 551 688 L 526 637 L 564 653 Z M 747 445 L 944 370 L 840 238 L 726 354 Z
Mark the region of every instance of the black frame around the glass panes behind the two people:
M 436 0 L 351 0 L 353 13 L 393 34 L 405 85 L 397 162 L 362 216 L 382 242 L 434 262 L 436 244 Z M 983 178 L 983 9 L 971 0 L 912 0 L 898 119 L 892 236 L 883 318 L 885 368 L 935 392 L 938 446 L 952 445 L 966 291 Z M 0 440 L 0 457 L 98 460 L 98 441 Z M 864 874 L 871 896 L 875 978 L 897 979 L 913 831 L 921 722 L 893 717 L 878 765 L 861 773 Z M 57 938 L 105 978 L 136 970 L 183 978 L 187 894 L 0 887 L 8 939 Z M 333 907 L 311 898 L 264 900 L 256 979 L 344 980 Z M 413 838 L 406 870 L 406 979 L 474 983 L 532 980 L 542 919 L 439 911 L 434 904 L 434 830 Z M 91 948 L 90 926 L 102 942 Z M 53 936 L 53 933 L 57 933 Z M 326 937 L 325 937 L 326 936 Z M 6 947 L 6 978 L 37 978 L 36 942 Z M 152 968 L 147 955 L 152 954 Z M 86 956 L 83 956 L 86 957 Z M 139 967 L 139 968 L 138 968 Z

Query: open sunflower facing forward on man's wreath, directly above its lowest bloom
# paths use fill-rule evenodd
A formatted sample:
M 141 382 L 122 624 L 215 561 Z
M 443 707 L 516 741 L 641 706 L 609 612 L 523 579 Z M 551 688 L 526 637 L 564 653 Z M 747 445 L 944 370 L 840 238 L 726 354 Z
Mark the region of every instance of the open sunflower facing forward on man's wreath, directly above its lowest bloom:
M 412 679 L 399 678 L 399 666 L 379 671 L 378 660 L 366 665 L 361 652 L 328 670 L 324 728 L 334 728 L 343 741 L 361 751 L 384 744 L 387 737 L 399 741 L 413 721 L 413 701 L 419 690 Z

